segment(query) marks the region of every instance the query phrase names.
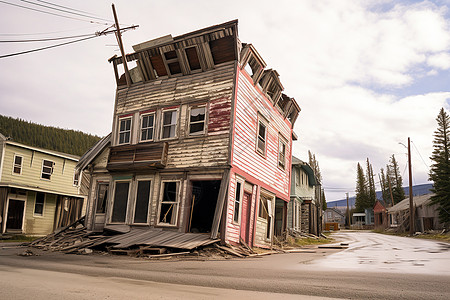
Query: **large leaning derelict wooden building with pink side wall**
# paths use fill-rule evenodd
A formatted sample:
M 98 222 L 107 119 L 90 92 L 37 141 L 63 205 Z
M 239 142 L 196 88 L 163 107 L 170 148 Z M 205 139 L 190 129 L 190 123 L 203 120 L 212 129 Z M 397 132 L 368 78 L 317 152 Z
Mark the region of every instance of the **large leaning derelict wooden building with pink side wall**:
M 239 40 L 237 24 L 135 45 L 129 68 L 122 57 L 109 60 L 112 133 L 79 164 L 92 174 L 89 230 L 148 228 L 269 247 L 285 227 L 300 108 L 277 71 Z

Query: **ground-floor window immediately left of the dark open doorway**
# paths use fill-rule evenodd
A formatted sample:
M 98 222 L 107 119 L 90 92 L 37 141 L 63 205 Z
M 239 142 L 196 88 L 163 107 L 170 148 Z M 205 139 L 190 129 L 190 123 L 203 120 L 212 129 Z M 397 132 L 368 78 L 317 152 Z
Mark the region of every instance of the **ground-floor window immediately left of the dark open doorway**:
M 163 181 L 158 224 L 176 225 L 178 215 L 178 181 Z

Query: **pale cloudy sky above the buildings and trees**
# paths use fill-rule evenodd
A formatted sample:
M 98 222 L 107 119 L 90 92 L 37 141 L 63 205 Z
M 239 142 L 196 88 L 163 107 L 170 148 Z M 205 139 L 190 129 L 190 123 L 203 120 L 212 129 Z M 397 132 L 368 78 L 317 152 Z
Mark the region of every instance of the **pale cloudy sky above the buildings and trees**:
M 357 164 L 367 158 L 378 174 L 394 154 L 407 186 L 408 137 L 413 184 L 428 183 L 435 119 L 442 107 L 450 111 L 450 0 L 114 4 L 122 27 L 139 25 L 123 34 L 127 53 L 153 38 L 238 19 L 240 40 L 278 71 L 302 109 L 293 154 L 304 161 L 308 150 L 315 154 L 327 201 L 354 195 Z M 0 57 L 70 40 L 6 41 L 93 34 L 112 20 L 110 1 L 0 0 Z M 108 134 L 114 55 L 108 35 L 0 58 L 0 114 Z

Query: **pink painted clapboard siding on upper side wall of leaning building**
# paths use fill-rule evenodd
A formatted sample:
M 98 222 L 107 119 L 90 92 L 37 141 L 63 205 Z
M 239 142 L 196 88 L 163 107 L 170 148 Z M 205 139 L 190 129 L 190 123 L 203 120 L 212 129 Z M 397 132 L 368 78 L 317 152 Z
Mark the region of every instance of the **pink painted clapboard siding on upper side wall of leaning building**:
M 237 70 L 236 108 L 232 166 L 244 177 L 252 177 L 255 184 L 289 201 L 292 131 L 288 120 L 255 88 L 245 71 Z M 266 156 L 256 152 L 258 113 L 268 121 Z M 287 140 L 286 168 L 278 167 L 279 134 Z

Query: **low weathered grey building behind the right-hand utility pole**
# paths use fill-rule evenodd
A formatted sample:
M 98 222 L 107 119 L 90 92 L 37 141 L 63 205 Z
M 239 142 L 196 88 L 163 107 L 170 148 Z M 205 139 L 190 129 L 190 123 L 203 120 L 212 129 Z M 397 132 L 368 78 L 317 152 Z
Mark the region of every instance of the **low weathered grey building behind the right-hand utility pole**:
M 438 205 L 430 205 L 431 196 L 433 194 L 413 197 L 415 231 L 423 232 L 443 228 L 443 225 L 439 223 Z M 390 227 L 396 228 L 399 232 L 409 230 L 409 198 L 403 199 L 393 207 L 388 208 L 387 211 Z

